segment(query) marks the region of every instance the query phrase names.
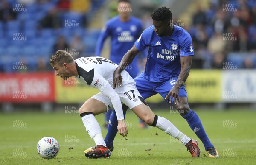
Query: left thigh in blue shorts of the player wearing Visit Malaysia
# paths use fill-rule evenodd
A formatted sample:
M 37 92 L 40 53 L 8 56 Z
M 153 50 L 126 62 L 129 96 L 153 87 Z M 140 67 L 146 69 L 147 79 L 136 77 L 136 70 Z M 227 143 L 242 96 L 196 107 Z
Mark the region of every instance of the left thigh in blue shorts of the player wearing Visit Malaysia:
M 157 86 L 157 83 L 149 82 L 146 78 L 144 78 L 141 75 L 134 78 L 134 81 L 136 82 L 136 87 L 140 92 L 140 95 L 144 99 L 157 94 L 157 92 L 154 91 L 155 87 Z

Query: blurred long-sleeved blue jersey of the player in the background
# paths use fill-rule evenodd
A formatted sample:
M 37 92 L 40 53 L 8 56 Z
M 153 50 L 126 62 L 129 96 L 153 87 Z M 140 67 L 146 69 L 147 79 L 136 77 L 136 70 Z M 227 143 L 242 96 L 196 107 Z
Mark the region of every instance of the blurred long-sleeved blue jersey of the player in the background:
M 130 17 L 128 22 L 122 22 L 119 16 L 113 17 L 106 23 L 97 41 L 95 56 L 100 56 L 103 42 L 111 36 L 110 60 L 119 64 L 125 53 L 131 49 L 142 31 L 142 23 L 136 17 Z M 137 58 L 130 64 L 137 69 Z M 139 71 L 139 70 L 138 70 Z

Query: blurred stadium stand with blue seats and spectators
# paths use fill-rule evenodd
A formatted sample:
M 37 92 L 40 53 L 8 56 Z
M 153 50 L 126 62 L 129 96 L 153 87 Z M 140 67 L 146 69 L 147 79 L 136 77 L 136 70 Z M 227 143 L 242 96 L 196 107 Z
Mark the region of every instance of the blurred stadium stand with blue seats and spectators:
M 68 0 L 38 0 L 27 4 L 19 2 L 1 2 L 0 12 L 15 11 L 0 17 L 1 72 L 17 71 L 10 69 L 14 58 L 25 58 L 31 66 L 27 71 L 35 71 L 37 68 L 31 59 L 36 62 L 43 59 L 48 63 L 49 56 L 54 53 L 53 47 L 58 36 L 65 36 L 67 45 L 71 45 L 74 36 L 80 36 L 80 44 L 84 45 L 83 55 L 93 56 L 102 24 L 92 19 L 104 17 L 101 14 L 102 6 L 113 1 L 73 0 L 70 3 Z M 148 12 L 151 12 L 152 5 L 143 9 L 143 2 L 132 0 L 134 6 L 141 6 L 137 11 L 148 9 Z M 169 1 L 150 2 L 147 4 L 153 4 L 155 8 Z M 192 36 L 197 55 L 193 60 L 193 68 L 216 68 L 215 62 L 219 60 L 215 59 L 218 58 L 234 62 L 238 68 L 247 68 L 247 61 L 250 61 L 250 68 L 256 68 L 255 0 L 194 0 L 190 3 L 189 6 L 194 6 L 193 8 L 178 16 L 173 13 L 173 18 L 181 20 L 180 25 L 184 23 L 183 28 Z M 172 6 L 168 7 L 172 10 Z M 143 17 L 142 13 L 137 14 L 139 15 L 135 16 L 148 19 Z M 96 25 L 97 28 L 93 27 L 94 25 L 93 28 L 88 28 L 90 24 Z M 221 40 L 222 45 L 218 40 Z

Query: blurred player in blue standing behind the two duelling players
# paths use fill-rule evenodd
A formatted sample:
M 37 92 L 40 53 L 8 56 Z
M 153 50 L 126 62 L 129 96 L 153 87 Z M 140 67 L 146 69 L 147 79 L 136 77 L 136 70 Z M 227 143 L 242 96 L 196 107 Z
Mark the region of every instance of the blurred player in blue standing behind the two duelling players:
M 118 16 L 108 20 L 97 40 L 95 56 L 100 56 L 105 39 L 111 36 L 111 50 L 109 59 L 119 64 L 125 53 L 131 49 L 134 42 L 139 38 L 142 32 L 142 23 L 140 19 L 130 16 L 132 8 L 129 0 L 119 0 L 117 4 Z M 138 59 L 134 58 L 125 70 L 135 78 L 139 74 Z M 108 123 L 111 110 L 105 114 L 105 120 Z M 147 125 L 140 120 L 140 128 Z

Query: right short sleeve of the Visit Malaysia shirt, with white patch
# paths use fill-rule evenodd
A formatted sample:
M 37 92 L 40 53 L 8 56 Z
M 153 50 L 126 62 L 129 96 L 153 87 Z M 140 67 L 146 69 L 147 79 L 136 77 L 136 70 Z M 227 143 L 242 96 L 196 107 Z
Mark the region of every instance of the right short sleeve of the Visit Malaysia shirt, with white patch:
M 194 48 L 192 46 L 192 39 L 189 34 L 184 34 L 182 37 L 183 41 L 181 41 L 180 47 L 180 57 L 182 56 L 193 56 L 194 55 Z

